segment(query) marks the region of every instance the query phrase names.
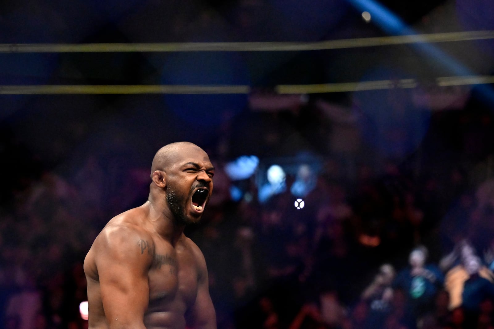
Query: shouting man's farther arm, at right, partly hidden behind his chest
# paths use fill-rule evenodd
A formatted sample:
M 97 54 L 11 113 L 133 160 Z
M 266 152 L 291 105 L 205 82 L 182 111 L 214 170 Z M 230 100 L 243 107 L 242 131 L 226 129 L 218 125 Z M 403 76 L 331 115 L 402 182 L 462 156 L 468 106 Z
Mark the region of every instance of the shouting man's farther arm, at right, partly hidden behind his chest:
M 216 312 L 209 295 L 206 260 L 196 244 L 192 243 L 199 266 L 198 290 L 194 305 L 187 311 L 187 328 L 216 329 Z

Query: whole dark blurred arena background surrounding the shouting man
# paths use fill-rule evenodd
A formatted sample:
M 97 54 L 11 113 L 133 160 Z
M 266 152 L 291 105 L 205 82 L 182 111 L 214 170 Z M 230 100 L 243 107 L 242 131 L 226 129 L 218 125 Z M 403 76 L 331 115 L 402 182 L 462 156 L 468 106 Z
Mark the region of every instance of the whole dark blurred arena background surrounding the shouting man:
M 466 0 L 1 1 L 1 328 L 87 328 L 85 253 L 182 140 L 218 168 L 186 232 L 218 328 L 494 328 L 493 17 Z M 339 39 L 353 43 L 54 50 Z M 47 46 L 19 51 L 29 43 Z M 247 91 L 23 89 L 44 85 Z

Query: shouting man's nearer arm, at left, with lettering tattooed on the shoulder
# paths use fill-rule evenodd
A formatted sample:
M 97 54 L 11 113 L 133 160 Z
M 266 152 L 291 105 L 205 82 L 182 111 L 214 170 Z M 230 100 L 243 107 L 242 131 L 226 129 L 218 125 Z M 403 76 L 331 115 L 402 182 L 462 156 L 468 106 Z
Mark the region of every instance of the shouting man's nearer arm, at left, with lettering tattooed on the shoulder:
M 151 238 L 137 227 L 116 225 L 105 228 L 98 239 L 95 263 L 109 327 L 145 329 Z

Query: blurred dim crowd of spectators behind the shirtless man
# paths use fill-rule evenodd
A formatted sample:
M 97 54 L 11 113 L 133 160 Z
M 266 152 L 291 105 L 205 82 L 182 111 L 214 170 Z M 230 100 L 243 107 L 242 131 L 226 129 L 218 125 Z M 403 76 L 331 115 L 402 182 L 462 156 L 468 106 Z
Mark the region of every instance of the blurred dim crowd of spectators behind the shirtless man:
M 365 139 L 344 154 L 331 133 L 355 127 L 314 108 L 232 119 L 204 146 L 218 168 L 214 198 L 186 233 L 206 257 L 218 328 L 494 328 L 491 113 L 436 113 L 421 146 L 400 158 L 372 153 Z M 144 203 L 149 168 L 87 156 L 61 174 L 6 137 L 14 178 L 0 210 L 2 328 L 87 328 L 84 256 L 111 217 Z M 289 189 L 259 202 L 254 176 L 232 200 L 226 161 L 281 156 L 287 143 L 321 145 L 305 206 Z

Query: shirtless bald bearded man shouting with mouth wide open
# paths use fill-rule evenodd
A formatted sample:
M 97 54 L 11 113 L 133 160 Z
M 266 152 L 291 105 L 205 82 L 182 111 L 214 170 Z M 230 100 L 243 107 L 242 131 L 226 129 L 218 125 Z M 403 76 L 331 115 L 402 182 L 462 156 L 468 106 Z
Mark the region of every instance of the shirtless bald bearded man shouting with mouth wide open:
M 206 261 L 183 233 L 201 219 L 213 175 L 199 146 L 158 150 L 148 201 L 111 219 L 84 260 L 89 329 L 216 329 Z

